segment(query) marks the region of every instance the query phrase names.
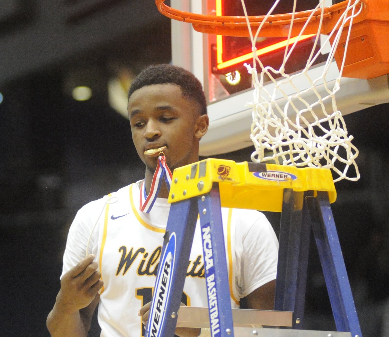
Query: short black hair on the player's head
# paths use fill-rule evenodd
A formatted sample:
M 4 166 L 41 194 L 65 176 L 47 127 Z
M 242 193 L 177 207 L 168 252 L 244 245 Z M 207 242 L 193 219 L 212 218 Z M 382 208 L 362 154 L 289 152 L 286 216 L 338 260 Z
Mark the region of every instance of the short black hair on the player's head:
M 131 83 L 128 98 L 135 90 L 154 84 L 178 85 L 182 96 L 197 102 L 201 115 L 207 114 L 207 100 L 200 81 L 190 71 L 176 65 L 157 64 L 143 69 Z

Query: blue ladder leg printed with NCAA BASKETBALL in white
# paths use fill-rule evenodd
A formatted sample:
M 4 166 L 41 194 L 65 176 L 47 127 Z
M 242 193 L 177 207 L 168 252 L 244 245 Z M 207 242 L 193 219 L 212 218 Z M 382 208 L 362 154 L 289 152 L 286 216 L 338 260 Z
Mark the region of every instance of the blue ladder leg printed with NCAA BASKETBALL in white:
M 217 183 L 214 183 L 209 193 L 198 197 L 198 209 L 211 335 L 233 337 L 230 288 Z

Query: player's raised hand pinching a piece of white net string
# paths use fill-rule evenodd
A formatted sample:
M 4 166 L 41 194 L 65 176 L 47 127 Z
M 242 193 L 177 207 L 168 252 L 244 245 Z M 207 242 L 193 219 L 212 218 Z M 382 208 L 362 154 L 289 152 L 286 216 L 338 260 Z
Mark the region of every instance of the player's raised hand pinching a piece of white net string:
M 65 313 L 70 314 L 87 307 L 102 288 L 103 281 L 94 258 L 94 254 L 88 255 L 63 275 L 56 304 Z

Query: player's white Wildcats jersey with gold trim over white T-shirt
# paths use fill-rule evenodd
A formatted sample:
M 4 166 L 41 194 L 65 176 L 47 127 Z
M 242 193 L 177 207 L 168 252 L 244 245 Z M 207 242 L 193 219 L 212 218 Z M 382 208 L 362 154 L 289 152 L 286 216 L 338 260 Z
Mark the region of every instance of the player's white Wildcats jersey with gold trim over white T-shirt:
M 144 332 L 137 313 L 151 300 L 170 204 L 157 198 L 150 213 L 140 212 L 139 185 L 83 206 L 68 233 L 62 275 L 87 255 L 87 246 L 88 254 L 96 255 L 104 282 L 98 308 L 103 337 Z M 276 278 L 278 241 L 260 212 L 222 208 L 222 219 L 231 306 L 237 308 L 240 298 Z M 207 307 L 199 221 L 182 302 Z

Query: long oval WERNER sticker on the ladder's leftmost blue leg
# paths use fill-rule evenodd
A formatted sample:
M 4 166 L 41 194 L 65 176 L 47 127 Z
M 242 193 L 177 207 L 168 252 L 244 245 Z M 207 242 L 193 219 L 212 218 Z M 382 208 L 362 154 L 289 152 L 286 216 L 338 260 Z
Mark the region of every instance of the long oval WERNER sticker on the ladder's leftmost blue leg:
M 173 232 L 170 235 L 169 242 L 166 245 L 165 253 L 159 262 L 161 272 L 154 287 L 153 303 L 151 307 L 151 314 L 147 323 L 146 335 L 151 337 L 160 337 L 162 332 L 162 323 L 166 314 L 167 299 L 170 294 L 173 276 L 173 263 L 175 256 L 176 236 Z

